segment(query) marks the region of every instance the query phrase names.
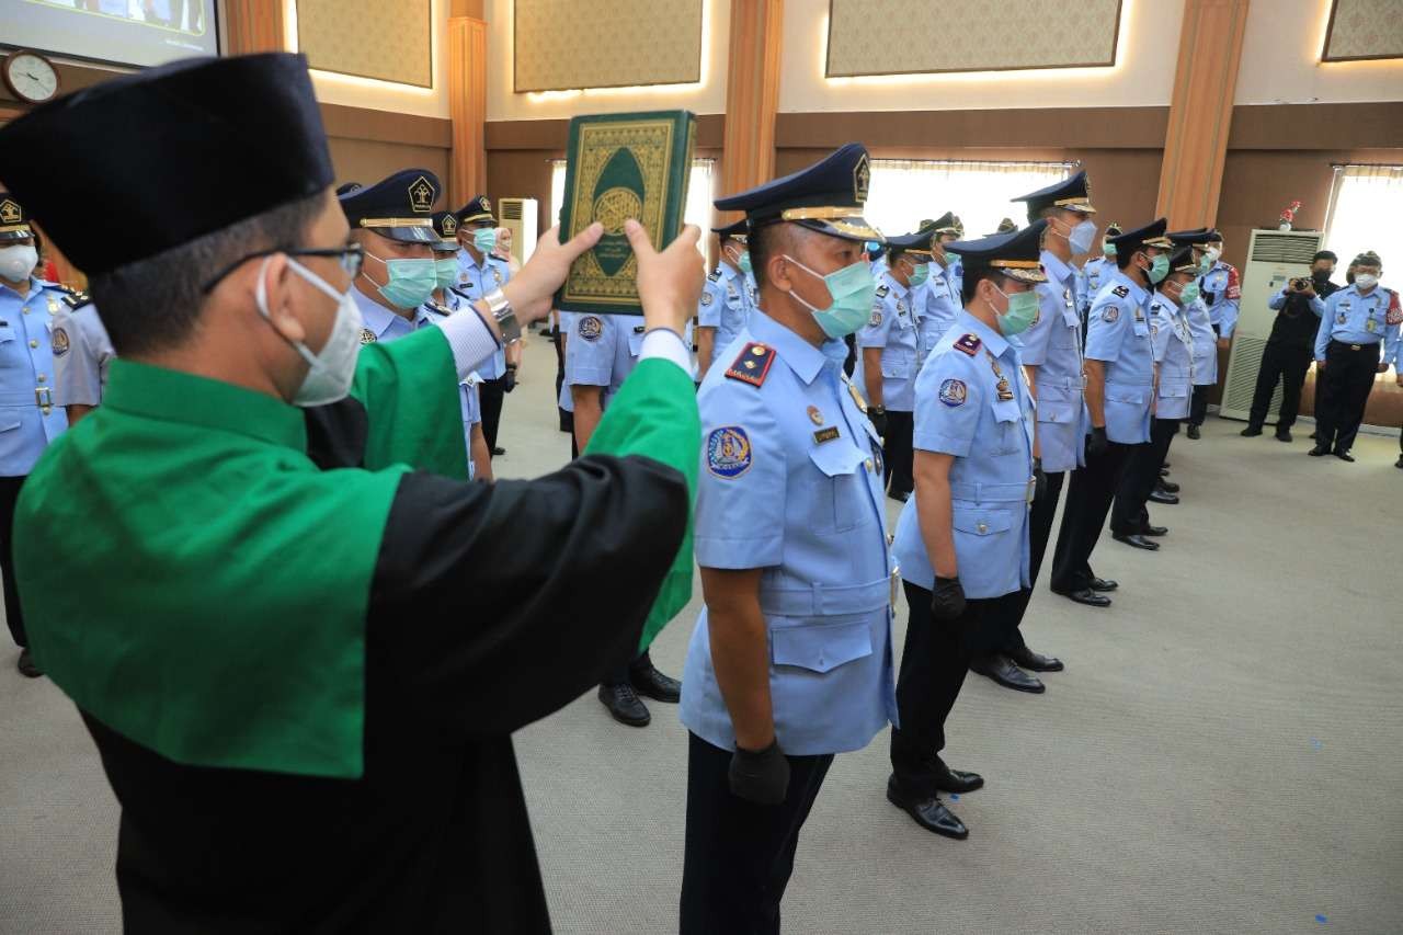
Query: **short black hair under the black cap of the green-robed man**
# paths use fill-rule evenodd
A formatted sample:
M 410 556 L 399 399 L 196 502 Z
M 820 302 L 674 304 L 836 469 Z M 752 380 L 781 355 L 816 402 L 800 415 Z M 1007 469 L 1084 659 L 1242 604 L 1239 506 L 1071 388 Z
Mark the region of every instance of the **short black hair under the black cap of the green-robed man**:
M 303 246 L 325 206 L 317 192 L 254 215 L 153 257 L 94 274 L 88 291 L 118 357 L 150 354 L 184 343 L 209 298 L 209 278 L 241 257 L 271 247 Z

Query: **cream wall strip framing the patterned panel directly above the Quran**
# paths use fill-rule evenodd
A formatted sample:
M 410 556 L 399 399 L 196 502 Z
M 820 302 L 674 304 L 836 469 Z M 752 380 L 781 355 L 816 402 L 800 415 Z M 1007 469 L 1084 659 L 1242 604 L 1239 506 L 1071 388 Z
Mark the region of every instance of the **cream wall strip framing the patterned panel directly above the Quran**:
M 512 91 L 512 0 L 487 1 L 487 119 L 543 121 L 575 114 L 641 110 L 725 112 L 731 0 L 704 0 L 702 8 L 702 81 L 657 87 L 591 88 L 585 91 Z

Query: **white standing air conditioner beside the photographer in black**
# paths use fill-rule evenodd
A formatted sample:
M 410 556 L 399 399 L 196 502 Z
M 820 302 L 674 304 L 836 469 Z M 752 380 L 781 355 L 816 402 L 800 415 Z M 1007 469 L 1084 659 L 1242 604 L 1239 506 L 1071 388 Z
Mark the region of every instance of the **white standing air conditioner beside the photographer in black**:
M 1247 268 L 1242 271 L 1242 302 L 1237 329 L 1233 331 L 1232 355 L 1228 358 L 1228 382 L 1223 385 L 1219 416 L 1247 420 L 1251 394 L 1257 389 L 1261 351 L 1271 336 L 1277 313 L 1267 299 L 1285 288 L 1292 277 L 1310 275 L 1310 258 L 1324 237 L 1319 230 L 1253 230 L 1247 247 Z M 1281 385 L 1271 394 L 1267 421 L 1277 421 L 1281 411 Z

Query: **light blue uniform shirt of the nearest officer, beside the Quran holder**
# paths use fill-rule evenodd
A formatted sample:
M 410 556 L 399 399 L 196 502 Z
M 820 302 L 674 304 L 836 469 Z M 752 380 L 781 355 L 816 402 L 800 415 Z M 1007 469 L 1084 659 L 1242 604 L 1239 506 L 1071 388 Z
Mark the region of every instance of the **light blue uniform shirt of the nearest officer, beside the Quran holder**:
M 774 733 L 787 754 L 860 750 L 897 720 L 881 441 L 843 375 L 842 341 L 814 347 L 756 310 L 738 354 L 697 393 L 702 469 L 696 556 L 709 569 L 762 569 Z M 751 341 L 773 351 L 755 355 Z M 737 364 L 738 368 L 744 366 Z M 735 733 L 711 667 L 703 609 L 682 677 L 682 723 L 731 750 Z

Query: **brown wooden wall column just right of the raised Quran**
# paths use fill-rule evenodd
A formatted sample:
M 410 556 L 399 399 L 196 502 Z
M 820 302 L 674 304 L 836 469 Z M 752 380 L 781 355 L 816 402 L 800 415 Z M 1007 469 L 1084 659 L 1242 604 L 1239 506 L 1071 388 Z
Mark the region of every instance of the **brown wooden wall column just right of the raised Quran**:
M 783 0 L 731 0 L 721 194 L 745 191 L 774 177 L 781 14 Z

